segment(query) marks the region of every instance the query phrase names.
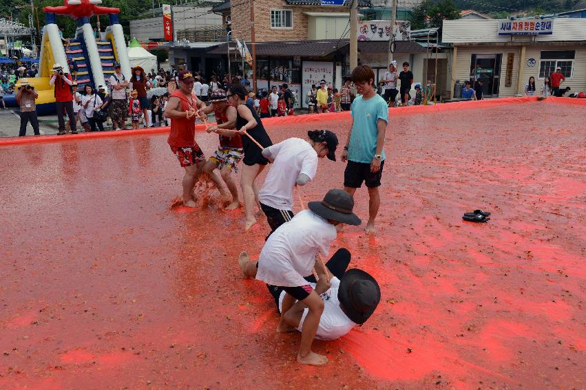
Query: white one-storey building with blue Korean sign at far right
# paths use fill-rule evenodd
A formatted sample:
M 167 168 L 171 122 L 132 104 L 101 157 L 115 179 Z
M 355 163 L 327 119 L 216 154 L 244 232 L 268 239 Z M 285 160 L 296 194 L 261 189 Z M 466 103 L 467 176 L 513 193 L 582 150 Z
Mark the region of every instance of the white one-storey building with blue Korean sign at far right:
M 558 66 L 562 87 L 586 90 L 586 19 L 443 21 L 442 41 L 454 45 L 452 92 L 454 80 L 482 78 L 486 97 L 522 95 L 530 76 L 541 89 Z

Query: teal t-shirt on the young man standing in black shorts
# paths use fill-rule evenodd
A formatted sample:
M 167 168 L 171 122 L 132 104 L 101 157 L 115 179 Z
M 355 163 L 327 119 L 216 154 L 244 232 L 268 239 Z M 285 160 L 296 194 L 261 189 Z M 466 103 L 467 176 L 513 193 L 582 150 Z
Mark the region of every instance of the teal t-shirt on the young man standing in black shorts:
M 357 96 L 352 103 L 350 111 L 354 119 L 352 136 L 348 145 L 348 160 L 353 162 L 365 162 L 370 164 L 377 151 L 377 122 L 379 119 L 388 123 L 388 106 L 380 95 L 375 95 L 368 100 Z M 386 158 L 384 149 L 382 159 Z

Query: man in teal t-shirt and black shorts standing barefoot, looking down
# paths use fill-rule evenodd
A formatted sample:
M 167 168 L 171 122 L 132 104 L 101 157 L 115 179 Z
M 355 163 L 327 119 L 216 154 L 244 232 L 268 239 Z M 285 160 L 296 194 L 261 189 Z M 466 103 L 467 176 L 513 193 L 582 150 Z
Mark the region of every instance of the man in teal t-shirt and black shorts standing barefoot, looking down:
M 373 233 L 381 198 L 379 186 L 385 154 L 384 136 L 388 123 L 388 106 L 376 93 L 375 73 L 368 65 L 360 65 L 352 72 L 358 96 L 352 103 L 352 129 L 342 153 L 342 162 L 348 161 L 344 171 L 344 190 L 354 195 L 362 182 L 368 188 L 368 223 L 366 232 Z

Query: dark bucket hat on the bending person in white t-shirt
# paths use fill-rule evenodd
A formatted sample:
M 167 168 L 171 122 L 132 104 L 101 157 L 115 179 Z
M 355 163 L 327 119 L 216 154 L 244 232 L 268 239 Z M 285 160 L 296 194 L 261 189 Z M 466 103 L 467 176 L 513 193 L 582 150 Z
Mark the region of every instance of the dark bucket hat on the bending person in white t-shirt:
M 325 219 L 342 222 L 346 225 L 358 226 L 362 224 L 352 210 L 354 198 L 344 190 L 330 190 L 322 202 L 309 202 L 309 210 Z

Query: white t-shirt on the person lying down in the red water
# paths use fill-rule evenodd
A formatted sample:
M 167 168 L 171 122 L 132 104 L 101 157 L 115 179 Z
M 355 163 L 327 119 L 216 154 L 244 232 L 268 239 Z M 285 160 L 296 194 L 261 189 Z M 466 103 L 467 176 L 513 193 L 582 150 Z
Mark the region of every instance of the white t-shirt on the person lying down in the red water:
M 342 311 L 342 307 L 339 307 L 339 279 L 337 279 L 337 277 L 332 277 L 330 281 L 332 283 L 330 290 L 321 294 L 322 301 L 324 301 L 324 312 L 322 313 L 320 325 L 317 327 L 317 333 L 315 334 L 315 338 L 320 340 L 335 340 L 340 338 L 350 332 L 350 329 L 356 325 Z M 308 284 L 315 289 L 315 283 Z M 285 294 L 286 292 L 281 292 L 281 296 L 279 297 L 279 310 L 281 310 Z M 305 309 L 303 312 L 301 321 L 297 327 L 299 332 L 301 332 L 308 311 L 308 309 Z

